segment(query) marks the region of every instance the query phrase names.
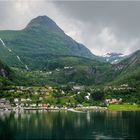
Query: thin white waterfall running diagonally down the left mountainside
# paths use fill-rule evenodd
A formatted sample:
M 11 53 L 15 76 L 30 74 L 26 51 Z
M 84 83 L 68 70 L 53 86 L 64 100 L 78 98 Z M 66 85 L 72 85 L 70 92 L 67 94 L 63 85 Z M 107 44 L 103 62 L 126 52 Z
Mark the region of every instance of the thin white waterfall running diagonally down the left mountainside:
M 4 48 L 6 48 L 10 53 L 13 53 L 13 54 L 16 56 L 16 58 L 18 59 L 18 61 L 19 61 L 22 65 L 24 65 L 24 67 L 25 67 L 26 70 L 29 70 L 28 66 L 27 66 L 23 61 L 21 61 L 21 58 L 20 58 L 18 55 L 16 55 L 10 48 L 8 48 L 8 47 L 5 45 L 4 41 L 3 41 L 1 38 L 0 38 L 0 42 L 2 43 L 2 45 L 3 45 Z

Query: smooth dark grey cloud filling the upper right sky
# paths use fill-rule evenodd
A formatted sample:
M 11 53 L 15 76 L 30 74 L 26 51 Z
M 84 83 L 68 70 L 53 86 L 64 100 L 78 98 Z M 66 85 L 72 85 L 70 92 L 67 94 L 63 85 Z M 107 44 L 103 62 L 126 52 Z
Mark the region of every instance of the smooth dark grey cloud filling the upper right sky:
M 64 13 L 82 22 L 110 26 L 118 35 L 124 34 L 123 37 L 140 35 L 139 1 L 70 1 L 55 3 Z

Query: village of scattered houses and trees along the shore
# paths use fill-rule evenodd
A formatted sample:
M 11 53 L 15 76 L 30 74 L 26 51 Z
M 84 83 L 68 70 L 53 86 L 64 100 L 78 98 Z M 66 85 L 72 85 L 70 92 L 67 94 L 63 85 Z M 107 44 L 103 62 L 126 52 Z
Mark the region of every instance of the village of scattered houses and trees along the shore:
M 110 104 L 120 104 L 123 102 L 122 98 L 112 97 L 105 98 L 104 101 L 102 101 L 104 102 L 104 106 L 100 104 L 89 104 L 88 102 L 91 102 L 92 94 L 89 91 L 86 91 L 85 86 L 74 85 L 69 90 L 62 87 L 7 87 L 4 89 L 4 93 L 1 93 L 0 110 L 68 110 L 70 108 L 76 110 L 107 110 Z M 131 87 L 125 84 L 119 87 L 108 86 L 108 89 L 120 91 L 130 90 Z M 96 90 L 98 91 L 99 89 Z M 69 93 L 70 91 L 72 93 Z M 96 92 L 95 89 L 92 89 L 92 92 Z M 76 102 L 74 104 L 75 98 L 82 97 L 83 103 Z M 63 101 L 65 103 L 53 102 L 53 100 L 60 100 L 61 98 L 65 98 Z M 69 100 L 67 100 L 68 98 Z M 92 102 L 94 102 L 94 100 Z

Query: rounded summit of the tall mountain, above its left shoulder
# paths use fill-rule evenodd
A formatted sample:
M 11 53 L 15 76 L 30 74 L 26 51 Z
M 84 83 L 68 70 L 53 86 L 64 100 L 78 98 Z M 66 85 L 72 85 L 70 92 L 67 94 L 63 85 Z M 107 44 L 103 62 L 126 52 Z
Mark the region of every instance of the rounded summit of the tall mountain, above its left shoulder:
M 37 28 L 37 27 L 49 27 L 49 28 L 53 28 L 56 25 L 56 23 L 49 18 L 48 16 L 44 15 L 44 16 L 38 16 L 34 19 L 32 19 L 29 24 L 27 25 L 26 28 Z

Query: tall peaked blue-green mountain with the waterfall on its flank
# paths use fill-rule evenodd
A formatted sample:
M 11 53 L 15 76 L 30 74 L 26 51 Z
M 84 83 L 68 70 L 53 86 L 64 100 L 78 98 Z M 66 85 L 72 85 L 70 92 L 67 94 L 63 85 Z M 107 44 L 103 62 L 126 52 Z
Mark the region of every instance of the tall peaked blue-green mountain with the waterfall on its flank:
M 9 66 L 42 69 L 50 57 L 58 56 L 96 58 L 47 16 L 31 20 L 23 30 L 0 31 L 0 59 Z

